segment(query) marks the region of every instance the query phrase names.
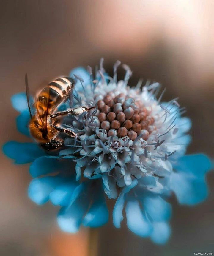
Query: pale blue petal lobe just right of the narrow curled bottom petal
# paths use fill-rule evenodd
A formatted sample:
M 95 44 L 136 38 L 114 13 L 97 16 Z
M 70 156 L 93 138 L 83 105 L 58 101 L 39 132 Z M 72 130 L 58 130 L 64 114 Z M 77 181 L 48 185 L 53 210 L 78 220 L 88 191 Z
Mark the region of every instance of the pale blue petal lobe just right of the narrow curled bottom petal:
M 141 211 L 139 202 L 128 201 L 125 210 L 128 228 L 141 237 L 149 236 L 152 232 L 152 225 L 145 213 Z

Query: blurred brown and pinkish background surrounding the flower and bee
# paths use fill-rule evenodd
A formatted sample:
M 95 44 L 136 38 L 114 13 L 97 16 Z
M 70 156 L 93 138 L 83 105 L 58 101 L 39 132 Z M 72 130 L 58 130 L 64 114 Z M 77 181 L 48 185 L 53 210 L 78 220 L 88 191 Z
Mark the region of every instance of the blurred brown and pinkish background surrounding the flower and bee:
M 43 81 L 69 74 L 76 66 L 94 67 L 104 58 L 112 74 L 117 59 L 133 77 L 159 81 L 165 100 L 179 97 L 193 121 L 188 152 L 214 158 L 214 2 L 213 0 L 46 0 L 1 1 L 1 145 L 27 141 L 16 130 L 10 96 L 31 92 Z M 119 70 L 123 76 L 123 70 Z M 14 165 L 1 153 L 0 255 L 86 256 L 87 229 L 65 234 L 56 224 L 58 209 L 39 207 L 27 197 L 29 165 Z M 214 174 L 210 196 L 199 206 L 178 206 L 172 198 L 172 234 L 164 246 L 131 233 L 112 219 L 99 231 L 99 255 L 193 255 L 214 252 Z M 110 209 L 113 203 L 109 205 Z

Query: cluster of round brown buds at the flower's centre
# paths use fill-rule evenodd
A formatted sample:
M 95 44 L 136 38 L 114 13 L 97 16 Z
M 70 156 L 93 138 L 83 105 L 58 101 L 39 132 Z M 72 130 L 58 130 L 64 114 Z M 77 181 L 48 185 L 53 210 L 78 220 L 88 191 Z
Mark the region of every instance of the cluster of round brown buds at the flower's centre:
M 108 132 L 108 136 L 128 136 L 135 140 L 142 135 L 141 138 L 147 140 L 149 134 L 156 130 L 151 109 L 123 93 L 117 96 L 113 92 L 107 93 L 103 100 L 97 102 L 97 107 L 101 128 Z

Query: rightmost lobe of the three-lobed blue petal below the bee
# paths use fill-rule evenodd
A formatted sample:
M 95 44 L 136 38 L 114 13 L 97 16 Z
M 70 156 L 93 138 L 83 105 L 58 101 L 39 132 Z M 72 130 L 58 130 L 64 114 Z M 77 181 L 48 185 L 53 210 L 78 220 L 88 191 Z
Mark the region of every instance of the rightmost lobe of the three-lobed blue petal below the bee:
M 56 189 L 51 192 L 50 200 L 54 205 L 67 206 L 70 202 L 70 198 L 78 186 L 76 179 L 65 182 L 56 187 Z

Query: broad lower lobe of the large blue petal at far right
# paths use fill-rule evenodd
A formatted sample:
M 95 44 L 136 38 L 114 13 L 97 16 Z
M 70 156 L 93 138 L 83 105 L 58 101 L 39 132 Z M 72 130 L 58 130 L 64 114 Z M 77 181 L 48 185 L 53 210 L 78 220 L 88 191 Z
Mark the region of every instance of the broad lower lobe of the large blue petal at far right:
M 185 173 L 171 174 L 171 189 L 175 192 L 179 203 L 195 205 L 204 201 L 208 195 L 208 189 L 203 177 Z

